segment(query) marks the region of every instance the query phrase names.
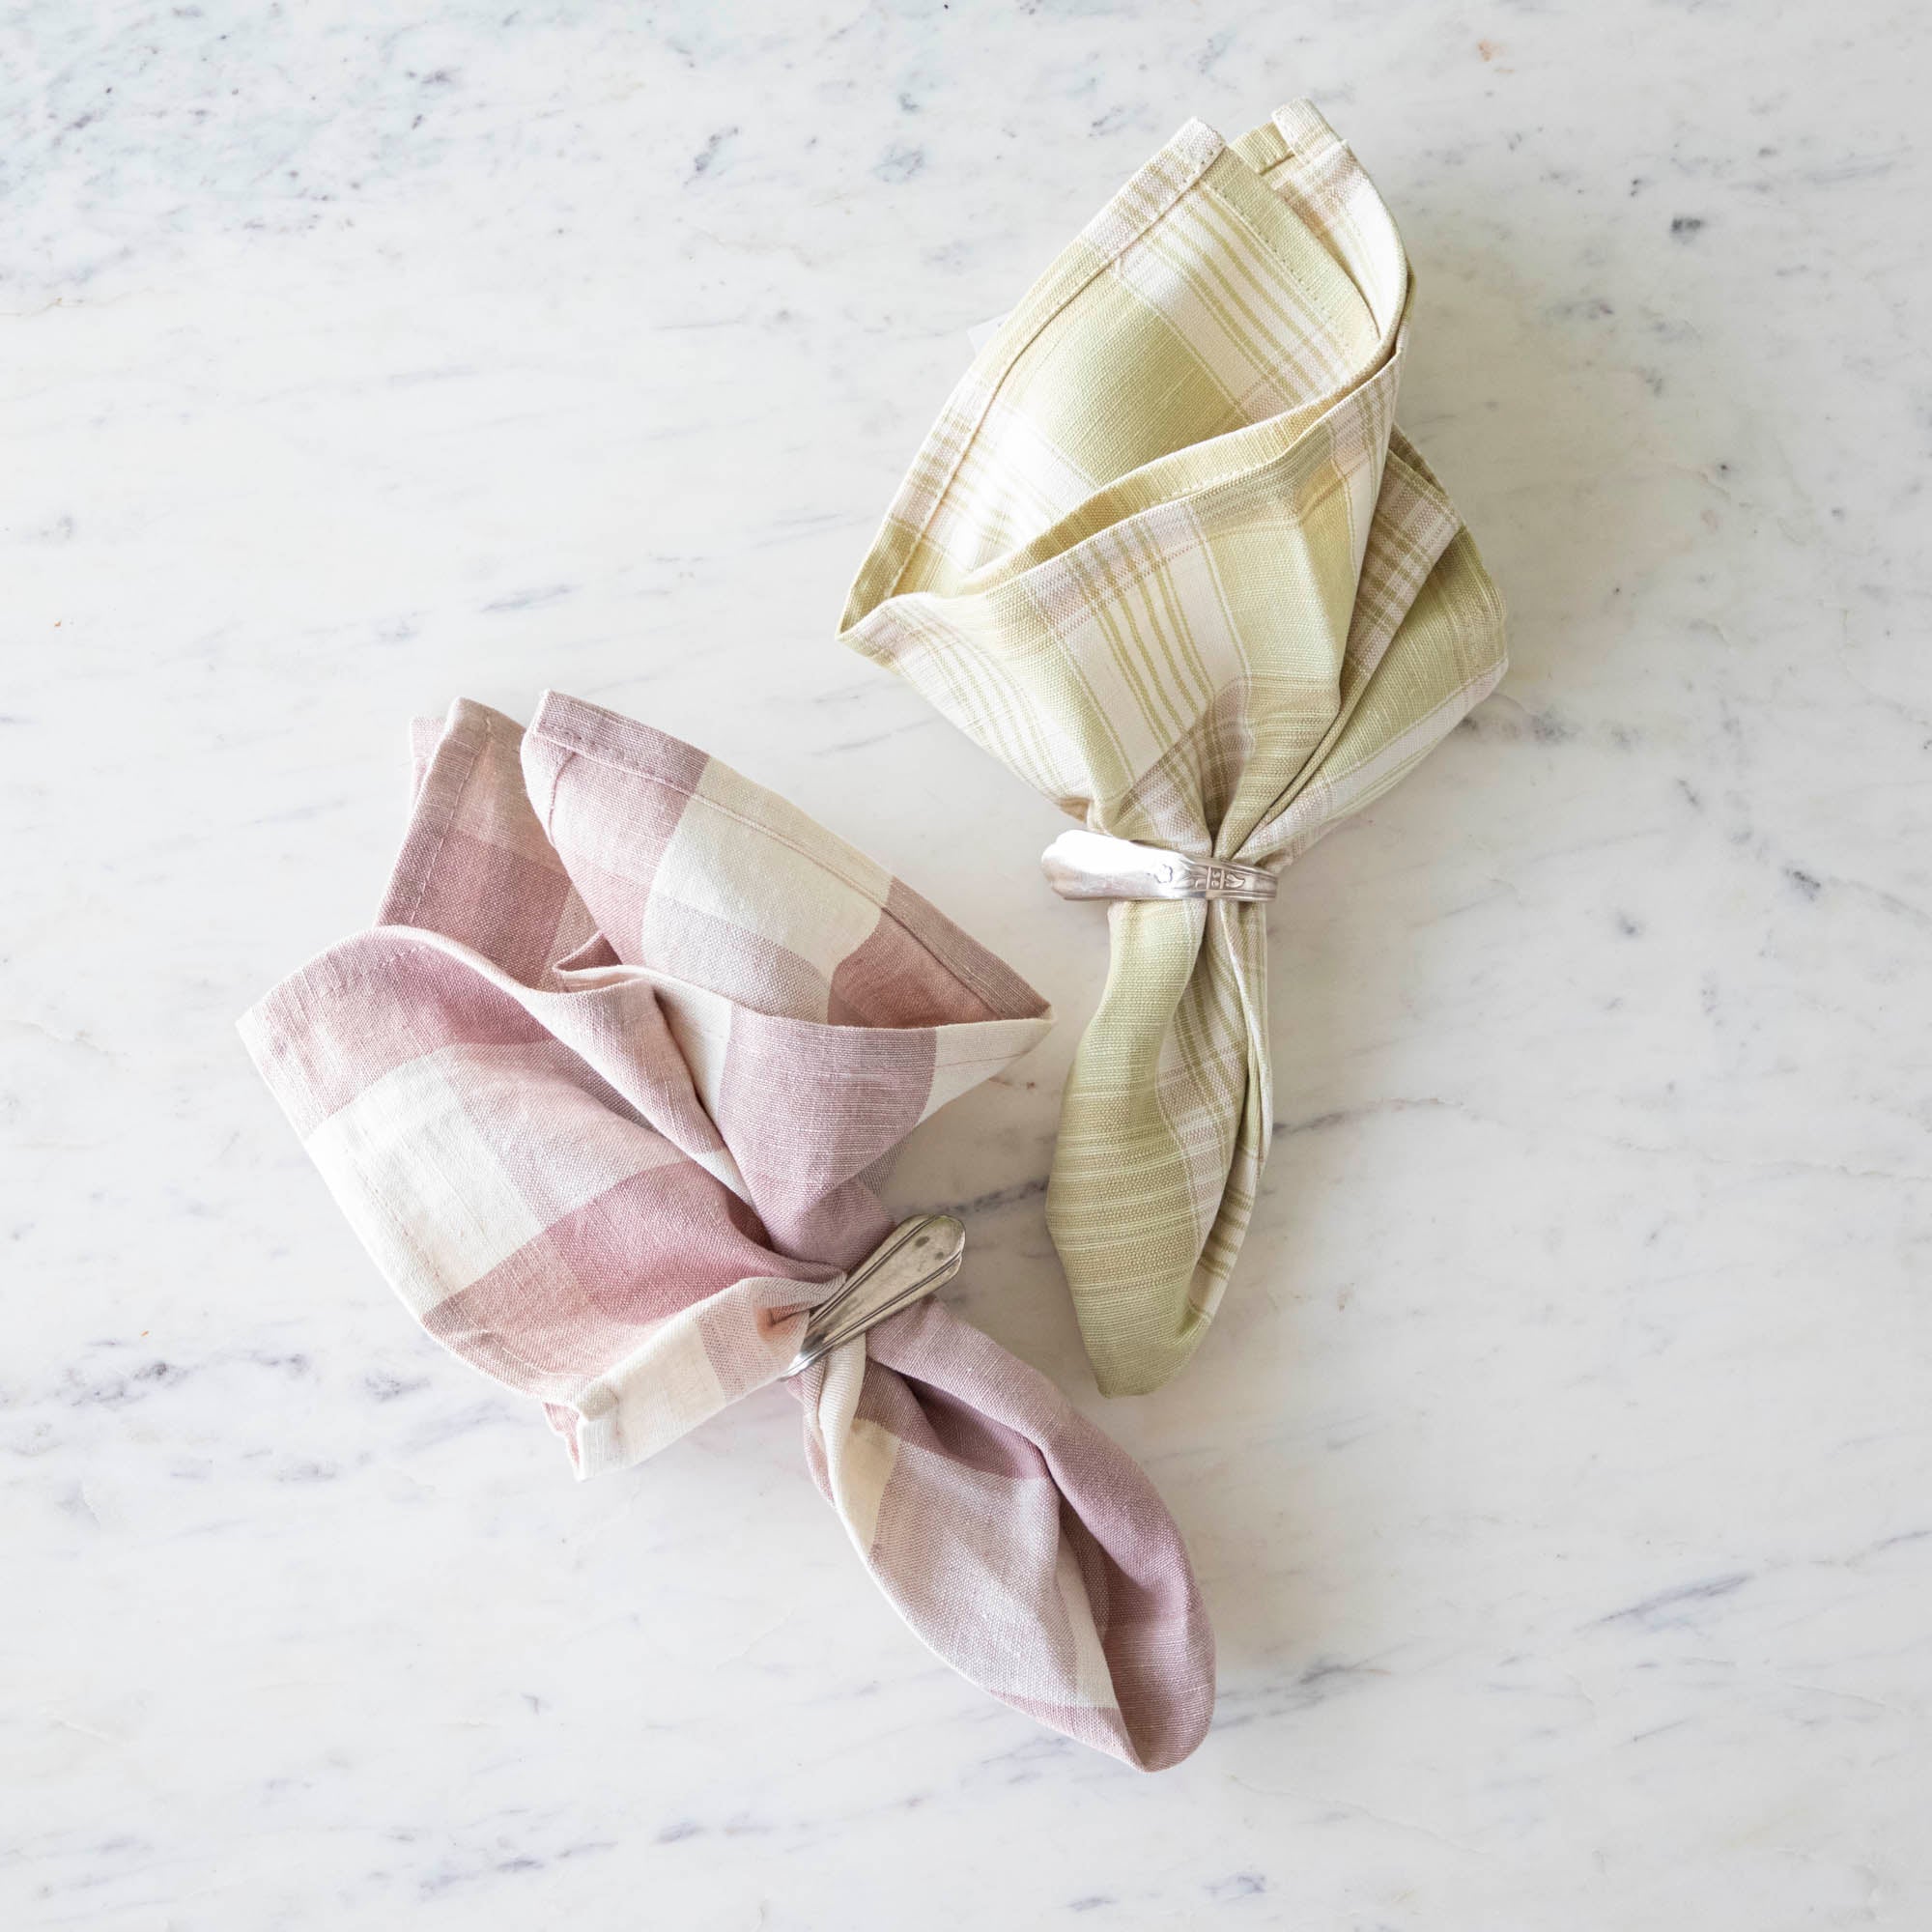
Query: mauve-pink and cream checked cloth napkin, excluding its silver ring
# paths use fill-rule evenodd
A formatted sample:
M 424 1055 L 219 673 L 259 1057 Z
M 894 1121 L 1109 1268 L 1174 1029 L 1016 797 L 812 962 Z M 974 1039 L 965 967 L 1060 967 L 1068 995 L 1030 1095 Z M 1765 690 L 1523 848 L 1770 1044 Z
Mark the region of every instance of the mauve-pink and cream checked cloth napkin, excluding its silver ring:
M 545 1405 L 580 1476 L 779 1379 L 885 1238 L 929 1113 L 1039 995 L 923 898 L 676 738 L 551 696 L 417 728 L 379 923 L 242 1022 L 415 1320 Z M 1148 1478 L 937 1302 L 794 1378 L 811 1472 L 914 1633 L 1142 1770 L 1213 1706 Z

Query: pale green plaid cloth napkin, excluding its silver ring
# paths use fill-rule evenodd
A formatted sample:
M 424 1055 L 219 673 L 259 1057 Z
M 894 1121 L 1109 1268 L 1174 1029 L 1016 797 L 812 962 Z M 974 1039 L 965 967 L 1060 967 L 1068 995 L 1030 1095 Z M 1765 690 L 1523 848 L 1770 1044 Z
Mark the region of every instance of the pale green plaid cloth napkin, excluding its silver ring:
M 1410 276 L 1306 102 L 1190 122 L 952 392 L 844 641 L 1099 833 L 1281 867 L 1503 674 L 1503 607 L 1395 429 Z M 1267 1157 L 1267 912 L 1109 908 L 1047 1223 L 1101 1389 L 1167 1381 Z

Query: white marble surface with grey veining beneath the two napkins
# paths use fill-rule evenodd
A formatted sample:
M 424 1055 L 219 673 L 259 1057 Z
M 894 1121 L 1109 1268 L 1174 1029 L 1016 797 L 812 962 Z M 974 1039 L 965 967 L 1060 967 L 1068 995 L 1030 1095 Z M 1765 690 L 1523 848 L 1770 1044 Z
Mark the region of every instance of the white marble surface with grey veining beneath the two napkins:
M 1905 6 L 60 6 L 4 27 L 0 1922 L 1932 1922 L 1932 311 Z M 1296 93 L 1420 272 L 1515 668 L 1285 881 L 1215 1337 L 1041 1219 L 1049 806 L 838 651 L 966 359 Z M 896 1625 L 771 1393 L 572 1486 L 236 1043 L 404 721 L 545 684 L 1051 993 L 956 1291 L 1148 1463 L 1219 1721 L 1138 1779 Z

